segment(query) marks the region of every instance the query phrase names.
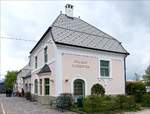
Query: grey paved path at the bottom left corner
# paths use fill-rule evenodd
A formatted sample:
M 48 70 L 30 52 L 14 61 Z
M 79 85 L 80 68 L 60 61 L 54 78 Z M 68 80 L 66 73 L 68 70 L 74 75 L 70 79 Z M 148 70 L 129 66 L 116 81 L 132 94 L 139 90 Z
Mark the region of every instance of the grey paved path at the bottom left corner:
M 0 103 L 4 107 L 5 114 L 76 114 L 69 111 L 62 113 L 61 111 L 50 109 L 48 106 L 29 102 L 19 97 L 6 98 L 4 95 L 0 95 Z M 0 114 L 2 114 L 1 111 Z

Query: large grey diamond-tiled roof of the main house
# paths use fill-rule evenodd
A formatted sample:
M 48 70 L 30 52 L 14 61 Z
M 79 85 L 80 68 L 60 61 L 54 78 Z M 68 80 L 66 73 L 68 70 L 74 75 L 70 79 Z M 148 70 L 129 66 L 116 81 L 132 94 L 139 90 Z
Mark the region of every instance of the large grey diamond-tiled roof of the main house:
M 76 17 L 60 14 L 45 34 L 49 31 L 56 44 L 129 54 L 118 40 Z

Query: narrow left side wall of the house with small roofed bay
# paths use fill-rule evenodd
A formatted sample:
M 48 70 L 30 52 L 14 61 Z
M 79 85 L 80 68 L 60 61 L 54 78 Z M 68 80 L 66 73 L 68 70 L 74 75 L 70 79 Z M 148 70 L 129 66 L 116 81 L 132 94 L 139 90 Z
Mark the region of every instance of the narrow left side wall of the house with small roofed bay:
M 40 69 L 45 65 L 44 62 L 44 48 L 48 47 L 48 62 L 46 64 L 49 65 L 52 73 L 50 75 L 43 75 L 38 76 L 37 73 L 40 71 Z M 34 94 L 34 80 L 38 79 L 38 85 L 39 85 L 39 79 L 43 79 L 44 84 L 44 78 L 50 78 L 50 95 L 55 95 L 55 44 L 52 40 L 52 36 L 50 32 L 45 36 L 43 41 L 39 43 L 39 45 L 35 48 L 35 50 L 30 55 L 30 63 L 31 63 L 31 92 Z M 38 57 L 37 59 L 37 68 L 35 68 L 35 56 Z M 52 81 L 53 80 L 53 81 Z M 38 95 L 40 95 L 40 86 L 38 87 Z M 44 85 L 43 85 L 43 94 L 44 95 Z

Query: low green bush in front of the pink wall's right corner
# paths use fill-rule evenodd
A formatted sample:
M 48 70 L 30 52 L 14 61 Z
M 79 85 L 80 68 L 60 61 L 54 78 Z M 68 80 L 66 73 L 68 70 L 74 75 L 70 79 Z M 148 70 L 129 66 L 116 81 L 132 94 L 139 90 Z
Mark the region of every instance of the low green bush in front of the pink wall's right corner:
M 118 95 L 115 97 L 114 108 L 118 110 L 137 110 L 139 106 L 136 104 L 134 96 Z

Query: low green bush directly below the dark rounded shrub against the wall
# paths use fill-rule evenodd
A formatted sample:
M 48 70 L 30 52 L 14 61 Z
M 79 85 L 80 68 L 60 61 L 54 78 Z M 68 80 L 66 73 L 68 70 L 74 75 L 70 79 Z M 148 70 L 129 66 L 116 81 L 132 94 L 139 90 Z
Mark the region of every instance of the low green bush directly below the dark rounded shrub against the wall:
M 113 102 L 109 97 L 91 95 L 84 99 L 83 111 L 106 112 L 113 110 Z

